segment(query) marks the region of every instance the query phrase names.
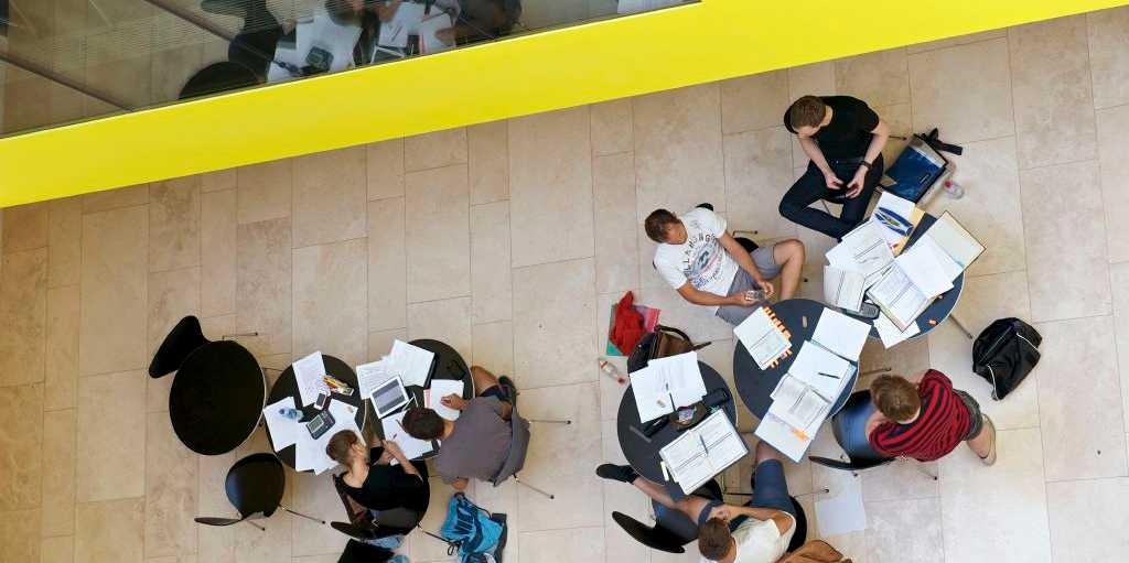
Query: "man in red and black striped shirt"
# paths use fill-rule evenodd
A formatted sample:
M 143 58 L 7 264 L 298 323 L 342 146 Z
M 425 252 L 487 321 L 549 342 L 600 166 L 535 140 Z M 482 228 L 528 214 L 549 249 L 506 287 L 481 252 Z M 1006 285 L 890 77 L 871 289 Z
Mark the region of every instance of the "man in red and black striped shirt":
M 901 376 L 878 376 L 870 384 L 877 411 L 866 422 L 870 447 L 890 457 L 933 461 L 962 441 L 984 465 L 996 463 L 996 426 L 968 393 L 937 370 Z

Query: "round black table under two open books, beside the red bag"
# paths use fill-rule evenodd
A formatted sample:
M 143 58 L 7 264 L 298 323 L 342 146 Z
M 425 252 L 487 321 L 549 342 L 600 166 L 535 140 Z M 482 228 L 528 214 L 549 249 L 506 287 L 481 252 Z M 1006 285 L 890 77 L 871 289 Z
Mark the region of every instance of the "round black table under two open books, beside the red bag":
M 707 366 L 706 363 L 699 361 L 698 368 L 702 372 L 702 381 L 706 384 L 706 392 L 711 393 L 715 389 L 726 389 L 728 386 L 725 384 L 725 379 L 714 368 Z M 737 405 L 733 401 L 733 395 L 730 394 L 729 401 L 723 405 L 725 408 L 725 415 L 729 417 L 729 422 L 733 425 L 737 425 Z M 623 457 L 627 458 L 631 467 L 634 468 L 639 475 L 647 477 L 655 483 L 666 483 L 673 484 L 674 489 L 681 491 L 676 483 L 667 482 L 663 477 L 663 469 L 659 467 L 658 463 L 660 460 L 658 451 L 663 449 L 664 446 L 674 441 L 679 437 L 679 431 L 674 429 L 673 425 L 666 424 L 662 430 L 659 430 L 655 436 L 650 438 L 648 443 L 642 436 L 639 436 L 632 429 L 638 429 L 642 432 L 645 423 L 639 421 L 639 407 L 636 405 L 634 393 L 629 386 L 625 392 L 623 392 L 623 398 L 620 399 L 620 411 L 615 415 L 615 433 L 620 439 L 620 449 L 623 450 Z M 671 487 L 667 486 L 669 491 Z

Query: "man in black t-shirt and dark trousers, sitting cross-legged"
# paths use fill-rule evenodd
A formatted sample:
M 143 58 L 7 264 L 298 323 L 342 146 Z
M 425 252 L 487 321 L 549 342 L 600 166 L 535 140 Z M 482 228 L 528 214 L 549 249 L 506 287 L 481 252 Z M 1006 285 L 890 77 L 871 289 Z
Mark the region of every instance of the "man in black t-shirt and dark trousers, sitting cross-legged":
M 863 222 L 882 179 L 882 149 L 890 126 L 865 102 L 850 96 L 804 96 L 785 112 L 784 126 L 799 137 L 811 161 L 780 200 L 780 214 L 841 239 Z M 808 206 L 835 193 L 846 197 L 840 217 Z

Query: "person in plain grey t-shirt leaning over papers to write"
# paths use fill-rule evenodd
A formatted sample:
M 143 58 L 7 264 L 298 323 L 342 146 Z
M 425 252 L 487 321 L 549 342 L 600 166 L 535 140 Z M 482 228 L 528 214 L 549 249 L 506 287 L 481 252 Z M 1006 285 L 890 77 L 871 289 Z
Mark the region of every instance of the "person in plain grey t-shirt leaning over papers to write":
M 404 414 L 404 430 L 419 440 L 441 440 L 435 458 L 436 473 L 456 491 L 466 489 L 470 478 L 490 481 L 501 470 L 509 455 L 511 438 L 509 402 L 498 378 L 485 369 L 471 368 L 479 396 L 470 401 L 450 394 L 441 403 L 461 411 L 452 422 L 431 408 L 414 407 Z

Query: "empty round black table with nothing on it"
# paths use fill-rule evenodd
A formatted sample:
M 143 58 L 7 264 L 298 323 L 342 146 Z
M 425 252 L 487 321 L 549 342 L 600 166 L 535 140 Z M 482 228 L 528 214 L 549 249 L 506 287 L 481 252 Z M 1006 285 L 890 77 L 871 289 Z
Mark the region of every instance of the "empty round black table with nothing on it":
M 173 430 L 204 456 L 234 450 L 255 431 L 266 380 L 255 357 L 231 341 L 209 342 L 181 364 L 168 395 Z

